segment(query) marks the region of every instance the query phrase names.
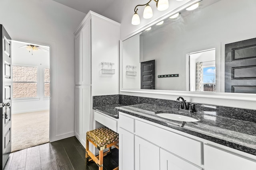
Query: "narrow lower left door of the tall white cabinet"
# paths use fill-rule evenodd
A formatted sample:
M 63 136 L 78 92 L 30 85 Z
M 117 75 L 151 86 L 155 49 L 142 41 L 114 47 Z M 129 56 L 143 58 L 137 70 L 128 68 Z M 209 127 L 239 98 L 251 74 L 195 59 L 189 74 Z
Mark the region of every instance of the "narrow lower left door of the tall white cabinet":
M 75 108 L 75 135 L 76 137 L 81 140 L 80 136 L 81 136 L 81 89 L 80 86 L 76 86 L 75 88 L 75 104 L 76 104 L 76 108 Z

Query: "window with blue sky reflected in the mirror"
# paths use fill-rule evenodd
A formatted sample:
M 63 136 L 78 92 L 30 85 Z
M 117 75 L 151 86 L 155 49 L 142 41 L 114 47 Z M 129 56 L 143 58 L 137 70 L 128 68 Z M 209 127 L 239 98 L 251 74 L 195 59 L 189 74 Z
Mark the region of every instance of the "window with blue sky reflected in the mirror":
M 203 67 L 203 91 L 204 92 L 215 92 L 216 84 L 216 73 L 215 66 L 204 66 Z

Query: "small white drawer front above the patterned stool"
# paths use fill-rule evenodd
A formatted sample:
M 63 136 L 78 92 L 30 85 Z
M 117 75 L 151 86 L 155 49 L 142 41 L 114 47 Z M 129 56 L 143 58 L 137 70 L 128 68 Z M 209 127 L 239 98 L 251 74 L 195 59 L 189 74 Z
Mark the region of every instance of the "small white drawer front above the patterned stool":
M 104 113 L 94 111 L 94 120 L 96 120 L 99 123 L 101 123 L 102 125 L 108 127 L 112 131 L 117 132 L 118 119 L 115 119 L 114 117 L 105 115 Z

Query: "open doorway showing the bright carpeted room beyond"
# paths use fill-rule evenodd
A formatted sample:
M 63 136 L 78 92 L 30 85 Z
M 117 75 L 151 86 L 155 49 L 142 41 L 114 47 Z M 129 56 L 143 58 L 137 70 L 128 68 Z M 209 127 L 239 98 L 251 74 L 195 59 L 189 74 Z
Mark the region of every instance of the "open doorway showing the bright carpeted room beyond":
M 50 47 L 12 41 L 12 151 L 48 143 Z

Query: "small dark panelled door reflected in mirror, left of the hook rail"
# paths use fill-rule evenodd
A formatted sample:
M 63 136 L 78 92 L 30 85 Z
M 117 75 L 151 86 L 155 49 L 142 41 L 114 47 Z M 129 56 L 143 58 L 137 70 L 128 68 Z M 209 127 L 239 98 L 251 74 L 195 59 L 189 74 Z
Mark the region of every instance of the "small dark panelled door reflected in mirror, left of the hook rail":
M 155 89 L 155 60 L 140 63 L 140 88 Z

